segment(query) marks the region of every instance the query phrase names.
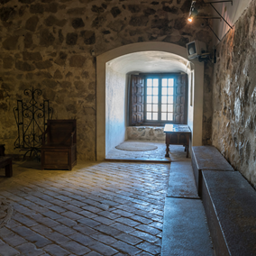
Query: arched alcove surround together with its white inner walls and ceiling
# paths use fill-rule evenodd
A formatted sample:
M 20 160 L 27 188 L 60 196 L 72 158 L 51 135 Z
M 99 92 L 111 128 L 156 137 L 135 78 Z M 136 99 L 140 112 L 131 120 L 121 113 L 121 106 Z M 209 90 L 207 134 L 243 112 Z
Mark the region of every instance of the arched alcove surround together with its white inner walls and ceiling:
M 155 55 L 150 54 L 152 52 Z M 139 42 L 109 50 L 96 58 L 96 160 L 104 160 L 106 152 L 115 144 L 120 143 L 120 140 L 124 140 L 123 129 L 125 129 L 125 125 L 119 125 L 118 123 L 125 123 L 125 121 L 118 121 L 118 119 L 122 118 L 122 114 L 119 113 L 115 116 L 111 112 L 111 107 L 109 107 L 111 103 L 109 101 L 117 99 L 121 102 L 123 100 L 122 104 L 125 105 L 125 82 L 123 82 L 123 88 L 118 86 L 118 83 L 110 82 L 108 79 L 111 76 L 108 74 L 108 67 L 112 67 L 114 73 L 116 73 L 116 79 L 121 79 L 120 81 L 122 81 L 122 79 L 125 80 L 127 72 L 139 69 L 134 68 L 134 58 L 137 58 L 138 61 L 149 63 L 149 56 L 154 56 L 150 60 L 156 64 L 149 64 L 152 70 L 153 66 L 155 66 L 155 69 L 159 69 L 160 66 L 163 67 L 166 59 L 168 59 L 171 61 L 172 66 L 176 65 L 177 69 L 187 73 L 188 92 L 190 94 L 188 96 L 190 102 L 187 109 L 187 124 L 192 131 L 191 144 L 194 146 L 202 144 L 204 63 L 200 63 L 197 60 L 190 62 L 187 59 L 186 48 L 176 44 L 168 42 Z M 123 99 L 115 93 L 121 93 Z M 125 111 L 125 107 L 123 107 L 123 111 Z M 111 119 L 115 120 L 112 123 L 114 122 L 117 126 L 119 125 L 118 129 L 116 125 L 112 125 L 109 122 L 110 114 L 112 116 Z M 113 129 L 113 127 L 115 128 Z M 116 133 L 120 133 L 121 136 L 116 138 Z

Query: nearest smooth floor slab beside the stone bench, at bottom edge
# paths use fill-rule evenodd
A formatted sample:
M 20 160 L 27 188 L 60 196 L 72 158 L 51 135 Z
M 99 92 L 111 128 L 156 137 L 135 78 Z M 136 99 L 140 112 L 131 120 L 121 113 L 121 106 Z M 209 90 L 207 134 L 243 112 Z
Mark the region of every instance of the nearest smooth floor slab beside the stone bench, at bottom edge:
M 161 256 L 215 255 L 201 200 L 166 197 Z

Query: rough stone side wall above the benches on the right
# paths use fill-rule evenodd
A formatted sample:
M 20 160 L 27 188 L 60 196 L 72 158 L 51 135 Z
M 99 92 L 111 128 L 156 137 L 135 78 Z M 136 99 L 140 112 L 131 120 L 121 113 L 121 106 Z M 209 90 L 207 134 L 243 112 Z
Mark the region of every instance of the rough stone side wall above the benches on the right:
M 217 48 L 213 144 L 256 187 L 256 1 Z

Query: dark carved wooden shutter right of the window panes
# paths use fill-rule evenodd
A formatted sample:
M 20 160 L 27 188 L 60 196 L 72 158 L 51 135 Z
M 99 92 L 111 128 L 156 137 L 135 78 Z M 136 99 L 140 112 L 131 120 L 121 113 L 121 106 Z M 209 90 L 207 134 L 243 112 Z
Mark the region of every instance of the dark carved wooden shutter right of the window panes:
M 174 122 L 187 123 L 187 75 L 178 75 L 175 83 Z

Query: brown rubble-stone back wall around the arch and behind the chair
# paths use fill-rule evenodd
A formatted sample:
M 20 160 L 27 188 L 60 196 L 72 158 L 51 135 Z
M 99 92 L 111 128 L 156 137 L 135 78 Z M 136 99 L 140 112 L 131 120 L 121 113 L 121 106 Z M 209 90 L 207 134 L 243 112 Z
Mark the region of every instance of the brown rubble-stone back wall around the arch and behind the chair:
M 0 4 L 0 142 L 6 144 L 7 153 L 16 153 L 13 108 L 25 88 L 41 88 L 43 97 L 50 99 L 53 118 L 78 119 L 78 159 L 95 160 L 95 56 L 138 41 L 211 43 L 212 33 L 200 21 L 187 24 L 190 0 L 0 0 Z M 210 96 L 206 90 L 205 94 Z M 204 127 L 209 115 L 206 107 Z

